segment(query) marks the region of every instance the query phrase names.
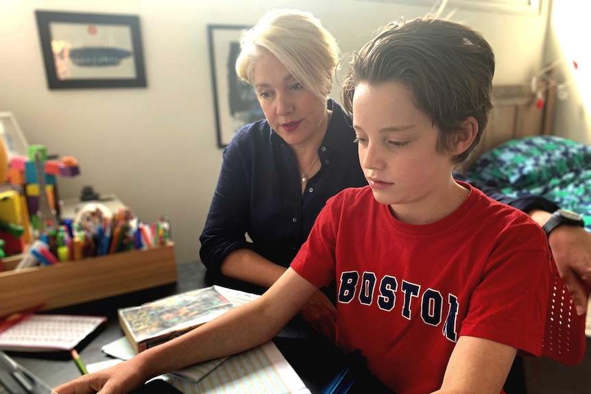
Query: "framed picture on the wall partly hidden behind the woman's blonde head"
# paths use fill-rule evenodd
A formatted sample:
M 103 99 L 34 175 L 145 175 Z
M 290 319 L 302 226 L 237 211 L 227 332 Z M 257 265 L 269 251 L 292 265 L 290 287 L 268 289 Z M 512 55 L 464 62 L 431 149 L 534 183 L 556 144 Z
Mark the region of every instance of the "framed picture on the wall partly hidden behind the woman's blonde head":
M 226 147 L 240 127 L 265 118 L 254 88 L 236 74 L 243 34 L 251 26 L 208 25 L 217 145 Z

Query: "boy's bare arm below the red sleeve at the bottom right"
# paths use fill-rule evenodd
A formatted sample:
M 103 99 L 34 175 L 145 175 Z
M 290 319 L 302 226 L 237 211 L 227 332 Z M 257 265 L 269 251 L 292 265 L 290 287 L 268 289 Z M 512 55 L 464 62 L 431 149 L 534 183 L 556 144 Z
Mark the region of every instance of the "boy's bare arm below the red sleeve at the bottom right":
M 437 394 L 498 394 L 517 349 L 475 336 L 460 336 Z

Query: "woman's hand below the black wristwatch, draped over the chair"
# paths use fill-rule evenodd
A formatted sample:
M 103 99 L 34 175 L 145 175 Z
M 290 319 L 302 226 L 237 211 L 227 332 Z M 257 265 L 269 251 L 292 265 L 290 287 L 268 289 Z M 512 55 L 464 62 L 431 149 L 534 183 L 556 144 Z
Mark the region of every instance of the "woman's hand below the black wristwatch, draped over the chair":
M 583 227 L 561 225 L 552 230 L 548 243 L 577 314 L 583 315 L 587 311 L 587 289 L 591 288 L 591 233 Z

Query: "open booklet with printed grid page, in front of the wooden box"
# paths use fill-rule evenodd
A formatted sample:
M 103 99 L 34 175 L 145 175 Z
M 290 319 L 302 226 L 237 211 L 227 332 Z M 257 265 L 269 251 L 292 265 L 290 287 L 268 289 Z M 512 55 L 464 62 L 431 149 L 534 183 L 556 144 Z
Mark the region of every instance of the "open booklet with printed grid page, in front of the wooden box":
M 104 316 L 29 314 L 0 332 L 0 350 L 71 350 L 106 321 Z

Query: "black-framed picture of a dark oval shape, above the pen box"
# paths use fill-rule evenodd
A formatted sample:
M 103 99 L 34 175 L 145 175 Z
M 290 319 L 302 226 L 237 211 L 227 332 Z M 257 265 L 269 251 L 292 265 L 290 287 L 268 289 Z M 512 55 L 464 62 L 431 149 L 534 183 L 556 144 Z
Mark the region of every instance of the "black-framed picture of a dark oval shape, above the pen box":
M 146 86 L 137 16 L 35 14 L 50 89 Z

